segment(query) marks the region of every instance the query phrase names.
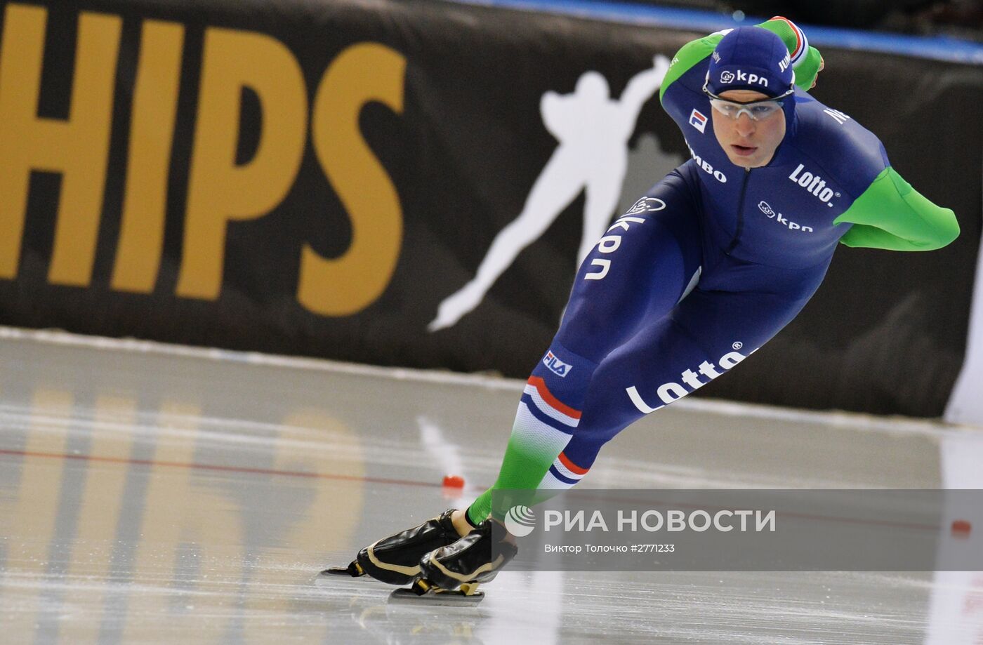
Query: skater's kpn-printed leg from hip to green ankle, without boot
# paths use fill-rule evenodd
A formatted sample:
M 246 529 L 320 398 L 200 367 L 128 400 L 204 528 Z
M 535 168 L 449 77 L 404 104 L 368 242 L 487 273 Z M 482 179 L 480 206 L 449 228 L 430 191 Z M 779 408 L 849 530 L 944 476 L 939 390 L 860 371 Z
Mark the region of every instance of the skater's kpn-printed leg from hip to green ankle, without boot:
M 700 264 L 694 208 L 688 183 L 670 174 L 580 267 L 560 329 L 526 383 L 498 478 L 468 509 L 472 524 L 492 512 L 492 491 L 537 490 L 576 433 L 598 364 L 654 309 L 678 301 Z

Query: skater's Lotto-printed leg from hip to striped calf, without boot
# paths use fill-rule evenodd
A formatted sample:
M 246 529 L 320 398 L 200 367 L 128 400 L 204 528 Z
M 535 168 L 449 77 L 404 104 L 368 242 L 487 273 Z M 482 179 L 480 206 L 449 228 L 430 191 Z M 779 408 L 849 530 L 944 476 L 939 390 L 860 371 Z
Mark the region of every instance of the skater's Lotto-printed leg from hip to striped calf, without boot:
M 705 276 L 669 315 L 639 331 L 601 363 L 576 434 L 539 488 L 563 491 L 574 486 L 601 447 L 621 430 L 750 356 L 798 314 L 825 271 L 826 264 L 801 271 L 745 265 Z M 735 279 L 748 290 L 726 290 Z

